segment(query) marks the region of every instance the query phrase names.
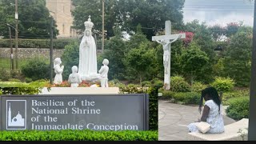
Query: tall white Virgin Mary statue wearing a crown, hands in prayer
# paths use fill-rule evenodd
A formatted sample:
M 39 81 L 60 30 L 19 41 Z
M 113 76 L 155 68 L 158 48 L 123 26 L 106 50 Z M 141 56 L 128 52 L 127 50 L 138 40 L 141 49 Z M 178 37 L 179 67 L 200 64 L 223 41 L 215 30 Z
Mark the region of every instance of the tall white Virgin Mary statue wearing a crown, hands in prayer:
M 96 44 L 91 32 L 94 23 L 91 22 L 89 16 L 84 24 L 86 30 L 79 46 L 78 74 L 80 74 L 82 80 L 94 81 L 99 78 L 99 74 L 97 74 Z

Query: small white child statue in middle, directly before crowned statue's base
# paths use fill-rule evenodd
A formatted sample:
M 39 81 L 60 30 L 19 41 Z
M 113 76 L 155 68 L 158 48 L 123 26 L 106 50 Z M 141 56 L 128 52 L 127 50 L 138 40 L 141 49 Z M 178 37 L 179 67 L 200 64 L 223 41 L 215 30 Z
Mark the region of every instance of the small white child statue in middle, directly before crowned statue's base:
M 82 82 L 80 74 L 78 74 L 78 66 L 72 66 L 72 74 L 70 74 L 68 82 L 71 84 L 70 87 L 78 87 Z

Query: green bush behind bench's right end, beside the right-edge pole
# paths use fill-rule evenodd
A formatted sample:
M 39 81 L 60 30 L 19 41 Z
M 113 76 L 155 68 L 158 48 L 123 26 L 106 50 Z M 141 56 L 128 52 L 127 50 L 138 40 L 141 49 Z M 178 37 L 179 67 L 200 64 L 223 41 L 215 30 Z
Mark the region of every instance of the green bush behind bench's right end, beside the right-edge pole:
M 234 120 L 249 118 L 250 97 L 230 98 L 227 103 L 226 115 Z

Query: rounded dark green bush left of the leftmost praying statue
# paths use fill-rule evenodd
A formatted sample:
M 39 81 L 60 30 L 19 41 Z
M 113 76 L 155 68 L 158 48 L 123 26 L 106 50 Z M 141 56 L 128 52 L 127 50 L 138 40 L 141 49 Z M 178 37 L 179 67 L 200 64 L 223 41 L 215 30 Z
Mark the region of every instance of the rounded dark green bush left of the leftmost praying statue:
M 50 78 L 50 64 L 42 58 L 31 58 L 22 65 L 22 74 L 33 81 Z

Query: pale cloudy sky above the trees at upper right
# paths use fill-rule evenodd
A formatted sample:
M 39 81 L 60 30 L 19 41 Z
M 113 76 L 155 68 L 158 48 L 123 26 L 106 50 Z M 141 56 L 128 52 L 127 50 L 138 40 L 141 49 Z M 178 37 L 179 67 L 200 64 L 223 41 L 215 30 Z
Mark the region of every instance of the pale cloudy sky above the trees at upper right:
M 226 26 L 229 22 L 242 21 L 253 26 L 254 2 L 250 0 L 185 0 L 183 8 L 184 22 L 198 19 L 213 26 Z

